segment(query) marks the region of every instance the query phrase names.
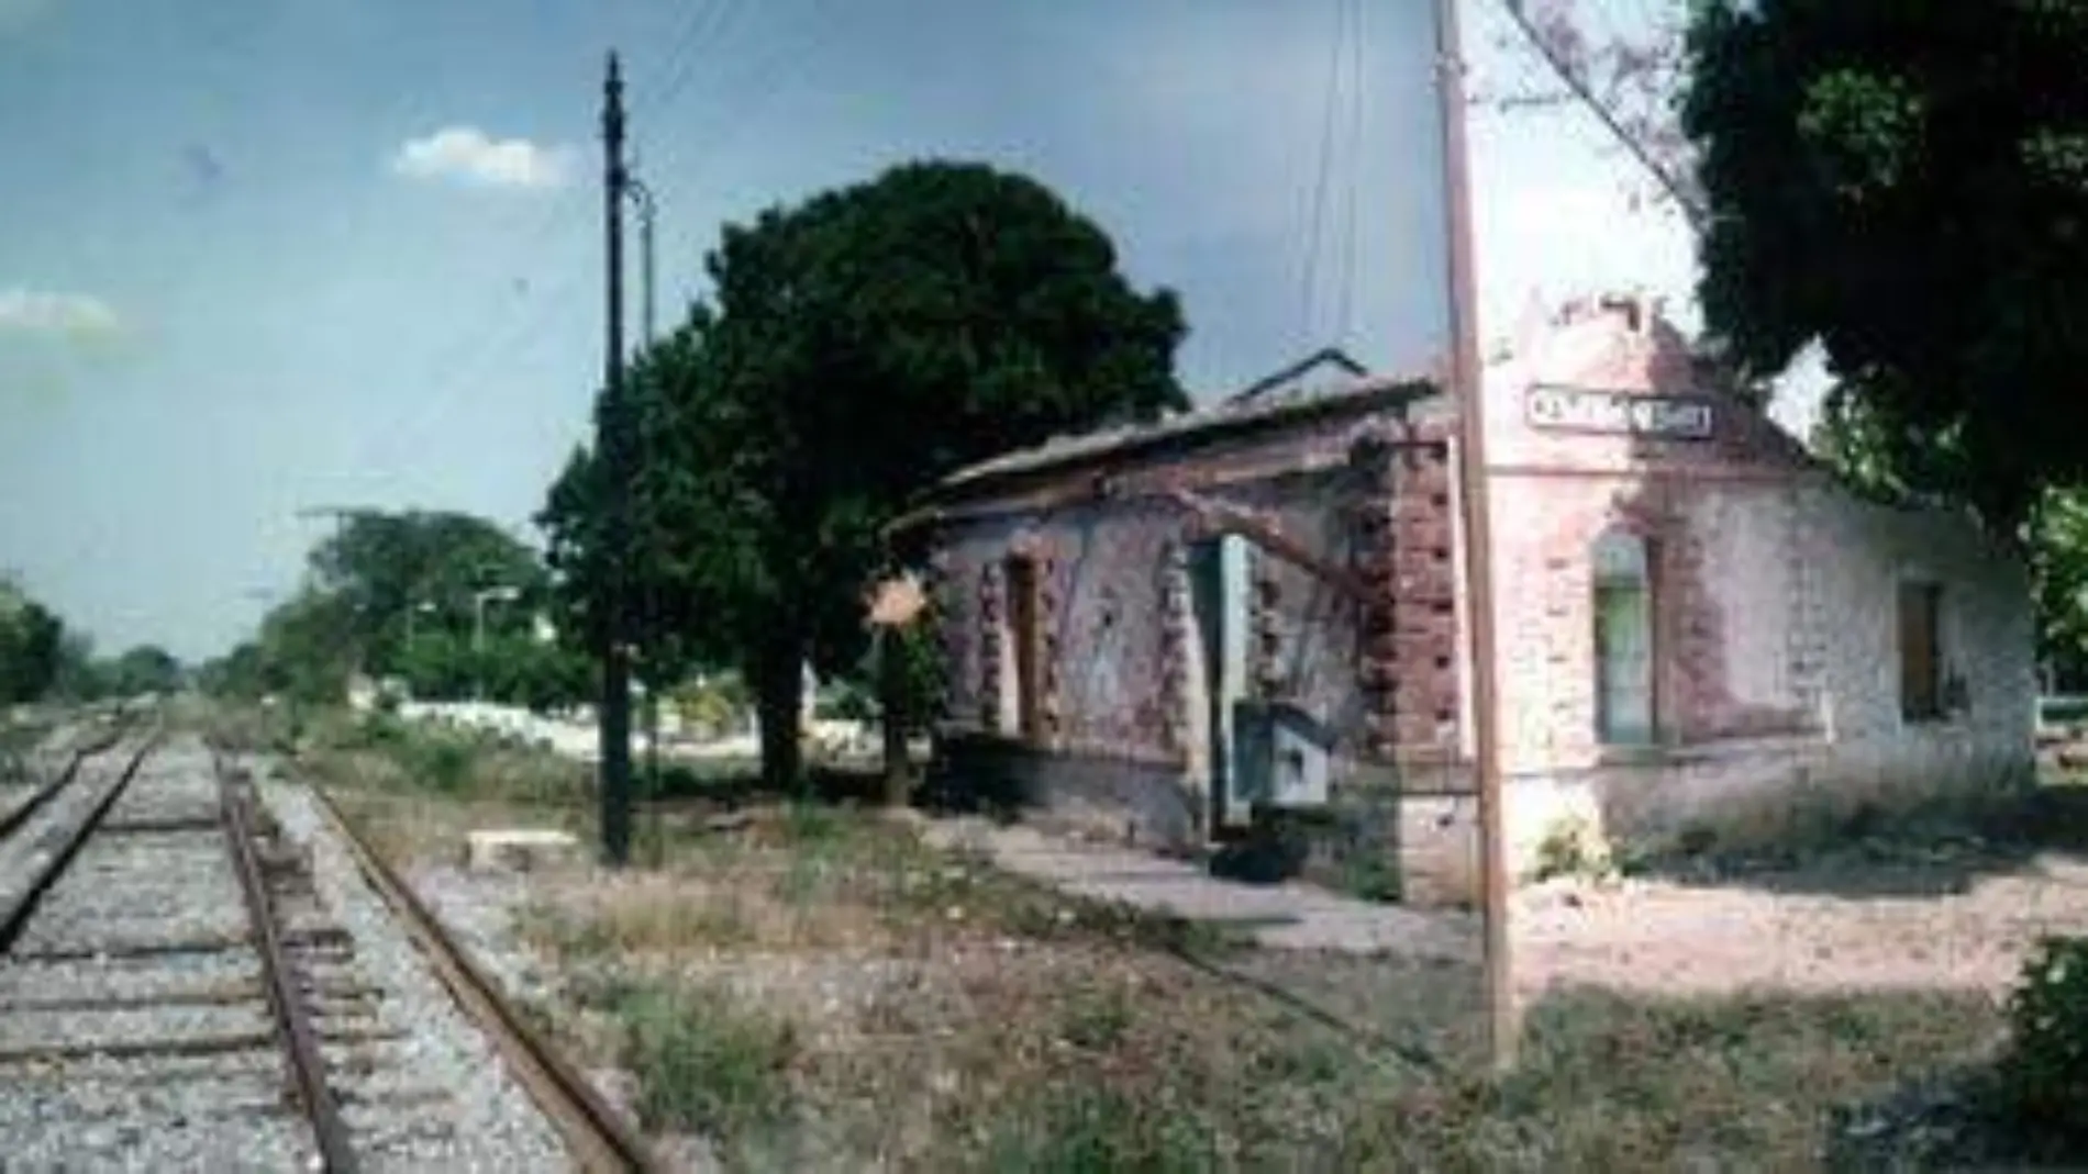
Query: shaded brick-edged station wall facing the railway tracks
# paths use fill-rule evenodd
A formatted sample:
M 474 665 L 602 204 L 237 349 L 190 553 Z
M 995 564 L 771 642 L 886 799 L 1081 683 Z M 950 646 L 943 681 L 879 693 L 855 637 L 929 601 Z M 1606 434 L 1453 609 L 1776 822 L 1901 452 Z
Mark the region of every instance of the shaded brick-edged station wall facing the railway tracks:
M 1357 430 L 1378 425 L 1422 446 L 1374 448 L 1357 459 Z M 1057 488 L 1063 494 L 1077 484 Z M 1401 782 L 1393 763 L 1416 751 L 1455 757 L 1445 455 L 1439 442 L 1401 434 L 1389 417 L 1303 425 L 1253 444 L 1134 463 L 1113 469 L 1107 496 L 1052 500 L 1046 486 L 1034 507 L 1002 503 L 946 523 L 933 601 L 954 669 L 952 728 L 1013 732 L 1013 634 L 1002 621 L 998 567 L 1011 553 L 1029 553 L 1050 596 L 1054 663 L 1052 721 L 1031 751 L 1059 765 L 1025 765 L 1025 786 L 1059 805 L 1073 792 L 1096 792 L 1079 782 L 1094 772 L 1075 769 L 1073 759 L 1117 761 L 1144 780 L 1132 790 L 1171 778 L 1171 794 L 1134 799 L 1115 788 L 1105 799 L 1125 811 L 1094 822 L 1128 817 L 1148 834 L 1171 836 L 1188 820 L 1201 836 L 1209 724 L 1186 561 L 1207 534 L 1190 511 L 1157 496 L 1167 486 L 1253 509 L 1315 559 L 1370 584 L 1372 594 L 1359 598 L 1295 561 L 1251 548 L 1251 694 L 1299 705 L 1326 728 L 1343 801 L 1389 801 Z M 1395 605 L 1401 598 L 1405 605 Z

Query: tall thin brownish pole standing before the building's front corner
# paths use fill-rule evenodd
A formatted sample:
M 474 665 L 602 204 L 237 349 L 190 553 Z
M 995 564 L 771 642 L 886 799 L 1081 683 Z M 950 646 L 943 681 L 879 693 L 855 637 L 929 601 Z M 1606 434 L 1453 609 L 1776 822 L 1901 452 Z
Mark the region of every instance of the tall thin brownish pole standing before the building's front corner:
M 1443 111 L 1443 227 L 1449 238 L 1451 394 L 1457 402 L 1457 475 L 1464 511 L 1466 615 L 1472 623 L 1472 757 L 1478 774 L 1478 872 L 1485 911 L 1487 1051 L 1516 1063 L 1522 1020 L 1508 963 L 1508 842 L 1501 820 L 1499 661 L 1493 634 L 1493 525 L 1487 478 L 1487 396 L 1478 361 L 1472 261 L 1472 167 L 1464 140 L 1464 46 L 1457 4 L 1437 0 L 1437 98 Z

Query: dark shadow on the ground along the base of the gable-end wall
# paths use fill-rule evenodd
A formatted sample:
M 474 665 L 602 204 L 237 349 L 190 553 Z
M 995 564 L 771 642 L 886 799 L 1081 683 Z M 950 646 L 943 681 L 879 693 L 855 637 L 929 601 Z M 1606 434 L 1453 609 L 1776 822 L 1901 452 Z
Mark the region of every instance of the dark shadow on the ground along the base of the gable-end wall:
M 1771 849 L 1700 845 L 1627 872 L 1693 886 L 1846 899 L 1950 897 L 1986 878 L 2075 857 L 2088 884 L 2088 786 L 2036 786 L 1979 805 L 1906 813 L 1858 809 Z

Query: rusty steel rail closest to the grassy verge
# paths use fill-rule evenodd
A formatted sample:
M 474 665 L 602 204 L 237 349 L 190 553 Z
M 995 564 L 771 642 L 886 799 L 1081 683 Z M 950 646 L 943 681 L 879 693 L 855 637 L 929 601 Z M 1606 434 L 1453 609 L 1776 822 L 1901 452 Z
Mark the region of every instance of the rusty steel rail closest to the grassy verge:
M 399 918 L 407 936 L 428 959 L 443 986 L 464 1005 L 484 1030 L 509 1072 L 528 1091 L 545 1118 L 566 1139 L 566 1147 L 585 1170 L 622 1170 L 656 1174 L 664 1170 L 651 1149 L 622 1114 L 578 1074 L 530 1024 L 507 1003 L 501 986 L 461 951 L 443 924 L 418 895 L 393 872 L 370 845 L 355 834 L 334 799 L 319 786 L 311 788 L 328 822 L 349 847 L 355 865 L 372 888 Z

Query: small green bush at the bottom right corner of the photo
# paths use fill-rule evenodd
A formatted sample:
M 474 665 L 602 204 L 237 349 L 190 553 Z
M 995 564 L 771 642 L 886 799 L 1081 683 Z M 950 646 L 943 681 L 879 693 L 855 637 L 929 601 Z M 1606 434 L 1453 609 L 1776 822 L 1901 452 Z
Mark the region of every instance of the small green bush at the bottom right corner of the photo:
M 2009 1105 L 2088 1141 L 2088 938 L 2046 938 L 2009 995 Z

